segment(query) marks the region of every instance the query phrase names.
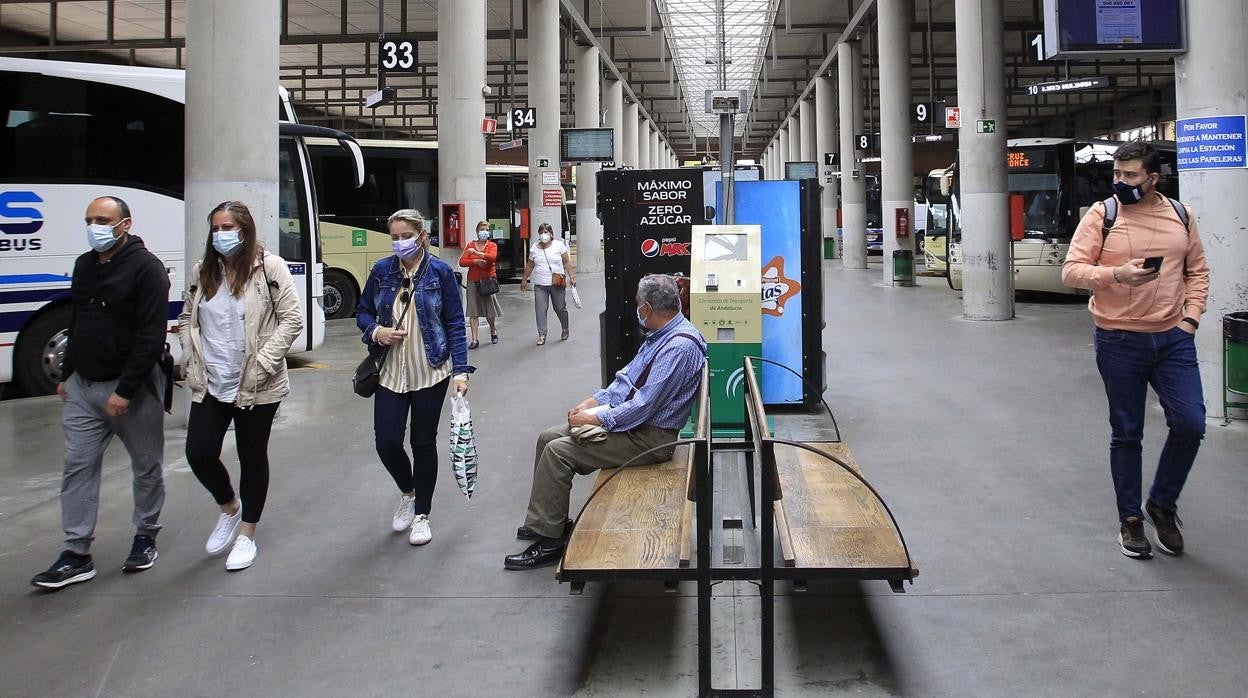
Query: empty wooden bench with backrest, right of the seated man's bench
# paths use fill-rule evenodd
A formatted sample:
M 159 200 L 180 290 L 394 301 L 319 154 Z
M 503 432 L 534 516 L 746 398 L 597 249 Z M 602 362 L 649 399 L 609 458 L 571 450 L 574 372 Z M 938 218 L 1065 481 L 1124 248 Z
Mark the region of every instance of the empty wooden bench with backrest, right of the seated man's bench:
M 775 438 L 749 365 L 745 375 L 751 428 L 769 451 L 760 456 L 764 463 L 774 462 L 776 537 L 785 568 L 778 576 L 797 582 L 886 579 L 901 591 L 901 582 L 914 579 L 919 569 L 884 502 L 860 479 L 861 468 L 849 446 Z M 771 472 L 764 465 L 764 477 Z

